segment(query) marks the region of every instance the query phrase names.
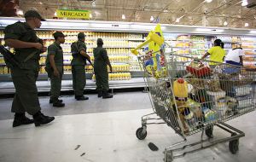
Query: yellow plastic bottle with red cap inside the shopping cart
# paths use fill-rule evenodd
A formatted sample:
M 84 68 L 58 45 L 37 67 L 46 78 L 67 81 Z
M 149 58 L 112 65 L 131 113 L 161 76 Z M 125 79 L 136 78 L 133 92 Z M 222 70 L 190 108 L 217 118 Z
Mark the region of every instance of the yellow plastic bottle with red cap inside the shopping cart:
M 188 83 L 183 78 L 178 78 L 173 83 L 173 93 L 177 101 L 186 101 L 189 95 Z

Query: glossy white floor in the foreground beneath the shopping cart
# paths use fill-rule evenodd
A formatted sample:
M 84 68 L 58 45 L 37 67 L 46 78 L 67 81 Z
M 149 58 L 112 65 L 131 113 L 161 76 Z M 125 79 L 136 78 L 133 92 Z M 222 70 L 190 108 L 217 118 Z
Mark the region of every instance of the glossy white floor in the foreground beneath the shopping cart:
M 47 126 L 33 125 L 11 128 L 11 119 L 0 121 L 0 161 L 4 162 L 160 162 L 166 145 L 180 140 L 166 125 L 148 125 L 148 136 L 137 140 L 135 131 L 141 125 L 141 116 L 151 109 L 108 113 L 87 113 L 58 116 Z M 253 162 L 256 158 L 256 115 L 248 113 L 230 124 L 243 130 L 240 151 L 233 155 L 228 144 L 218 144 L 176 162 Z M 215 130 L 214 136 L 224 136 Z M 189 137 L 189 142 L 199 139 L 200 134 Z M 160 149 L 153 152 L 148 142 Z M 78 145 L 80 147 L 78 148 Z M 78 148 L 75 150 L 75 148 Z

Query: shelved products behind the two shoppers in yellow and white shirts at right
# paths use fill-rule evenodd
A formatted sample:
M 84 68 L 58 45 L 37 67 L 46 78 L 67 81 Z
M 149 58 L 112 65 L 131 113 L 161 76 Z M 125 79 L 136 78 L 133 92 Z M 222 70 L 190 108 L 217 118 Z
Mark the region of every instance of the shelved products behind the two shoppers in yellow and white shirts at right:
M 166 42 L 172 45 L 173 50 L 178 55 L 189 55 L 201 58 L 213 45 L 215 39 L 224 42 L 224 49 L 228 53 L 230 49 L 236 48 L 236 44 L 241 44 L 245 51 L 244 66 L 255 68 L 256 65 L 256 38 L 246 36 L 211 36 L 193 34 L 173 34 L 164 33 Z M 226 53 L 226 54 L 227 54 Z M 183 60 L 181 60 L 183 61 Z

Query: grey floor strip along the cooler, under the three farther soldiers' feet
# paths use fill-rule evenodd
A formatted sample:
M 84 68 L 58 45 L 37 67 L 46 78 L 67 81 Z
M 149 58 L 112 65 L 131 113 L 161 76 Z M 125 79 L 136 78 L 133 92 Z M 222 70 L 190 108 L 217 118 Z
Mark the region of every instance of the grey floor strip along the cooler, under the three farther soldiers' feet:
M 52 107 L 49 104 L 49 96 L 40 96 L 40 104 L 42 112 L 49 116 L 61 116 L 70 114 L 84 113 L 103 113 L 124 110 L 137 110 L 150 108 L 148 93 L 143 91 L 116 93 L 113 99 L 98 98 L 97 95 L 89 96 L 88 101 L 76 101 L 73 95 L 64 95 L 61 99 L 66 104 L 66 107 Z M 13 119 L 14 113 L 10 113 L 12 98 L 0 99 L 0 120 Z

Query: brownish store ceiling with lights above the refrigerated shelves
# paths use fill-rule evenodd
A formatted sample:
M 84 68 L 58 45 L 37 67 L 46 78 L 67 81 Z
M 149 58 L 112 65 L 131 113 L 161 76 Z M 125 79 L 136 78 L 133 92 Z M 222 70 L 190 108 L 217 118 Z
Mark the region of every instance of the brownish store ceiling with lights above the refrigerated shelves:
M 92 20 L 150 22 L 153 16 L 165 24 L 224 26 L 227 21 L 229 27 L 256 28 L 256 7 L 242 7 L 241 0 L 20 0 L 20 9 L 37 9 L 45 18 L 54 17 L 55 9 L 89 9 Z

